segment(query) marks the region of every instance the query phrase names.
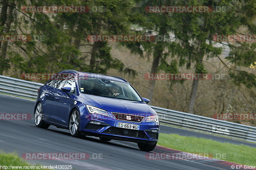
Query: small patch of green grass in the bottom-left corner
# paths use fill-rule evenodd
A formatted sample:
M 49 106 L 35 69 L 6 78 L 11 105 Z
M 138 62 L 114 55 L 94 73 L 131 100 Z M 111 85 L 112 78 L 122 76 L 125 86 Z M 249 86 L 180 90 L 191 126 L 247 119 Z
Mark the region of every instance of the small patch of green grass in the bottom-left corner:
M 19 158 L 17 156 L 17 154 L 15 154 L 15 153 L 0 152 L 0 170 L 8 169 L 9 165 L 11 165 L 11 166 L 22 166 L 21 170 L 27 170 L 26 167 L 23 167 L 23 166 L 32 166 L 32 165 L 28 164 L 26 161 L 24 161 L 23 159 Z M 8 166 L 8 167 L 3 168 L 3 166 Z M 41 166 L 41 165 L 37 164 L 35 166 Z M 11 167 L 11 169 L 20 169 L 20 168 L 18 168 L 18 167 L 16 167 L 16 168 L 13 167 L 12 168 Z M 36 170 L 36 168 L 34 168 L 34 169 L 32 168 L 31 170 Z

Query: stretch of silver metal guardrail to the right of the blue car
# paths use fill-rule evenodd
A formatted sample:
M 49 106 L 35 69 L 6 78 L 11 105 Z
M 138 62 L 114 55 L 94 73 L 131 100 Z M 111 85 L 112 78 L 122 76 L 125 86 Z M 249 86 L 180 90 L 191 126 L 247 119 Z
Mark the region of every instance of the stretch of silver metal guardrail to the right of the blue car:
M 150 107 L 158 113 L 160 122 L 170 126 L 230 137 L 248 142 L 256 142 L 256 127 L 253 126 L 217 120 L 156 106 Z

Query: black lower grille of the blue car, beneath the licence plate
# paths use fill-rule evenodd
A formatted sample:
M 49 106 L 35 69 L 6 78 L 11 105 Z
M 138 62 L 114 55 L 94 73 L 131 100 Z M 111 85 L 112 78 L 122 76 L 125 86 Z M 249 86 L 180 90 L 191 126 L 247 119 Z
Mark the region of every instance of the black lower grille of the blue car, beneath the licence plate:
M 106 129 L 103 133 L 148 139 L 143 130 L 124 129 L 111 126 L 110 128 Z

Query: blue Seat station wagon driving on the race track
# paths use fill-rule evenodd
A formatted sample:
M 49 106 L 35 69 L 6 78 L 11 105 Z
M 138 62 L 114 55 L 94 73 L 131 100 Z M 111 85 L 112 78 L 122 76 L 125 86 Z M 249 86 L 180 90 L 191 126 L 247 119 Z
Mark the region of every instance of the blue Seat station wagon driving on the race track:
M 159 120 L 148 102 L 124 78 L 62 70 L 38 89 L 35 124 L 68 129 L 73 137 L 135 142 L 152 151 Z

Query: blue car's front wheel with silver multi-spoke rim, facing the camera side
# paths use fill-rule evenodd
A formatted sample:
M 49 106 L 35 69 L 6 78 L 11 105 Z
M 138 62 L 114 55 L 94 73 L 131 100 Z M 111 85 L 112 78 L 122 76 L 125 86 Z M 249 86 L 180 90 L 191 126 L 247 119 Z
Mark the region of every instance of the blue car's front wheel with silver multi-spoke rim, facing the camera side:
M 70 114 L 69 123 L 68 123 L 69 133 L 72 137 L 79 137 L 79 138 L 84 137 L 81 134 L 79 127 L 80 127 L 80 115 L 77 109 L 75 109 Z

